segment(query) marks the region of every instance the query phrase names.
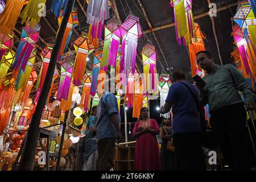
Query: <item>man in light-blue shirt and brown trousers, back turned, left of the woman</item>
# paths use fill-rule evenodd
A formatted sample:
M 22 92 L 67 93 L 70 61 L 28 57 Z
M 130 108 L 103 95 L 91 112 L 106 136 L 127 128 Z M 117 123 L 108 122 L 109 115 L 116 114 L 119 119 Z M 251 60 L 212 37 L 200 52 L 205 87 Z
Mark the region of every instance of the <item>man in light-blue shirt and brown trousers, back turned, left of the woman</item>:
M 110 81 L 109 81 L 110 82 Z M 122 138 L 121 117 L 117 98 L 108 90 L 101 97 L 97 113 L 98 171 L 109 171 L 113 167 L 115 139 Z

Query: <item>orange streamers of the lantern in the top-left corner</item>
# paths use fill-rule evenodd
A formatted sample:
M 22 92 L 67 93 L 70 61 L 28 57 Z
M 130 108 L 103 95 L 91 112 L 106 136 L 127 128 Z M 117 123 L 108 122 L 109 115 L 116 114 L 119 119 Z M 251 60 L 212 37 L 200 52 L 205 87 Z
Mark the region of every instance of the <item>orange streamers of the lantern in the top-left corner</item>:
M 7 1 L 5 10 L 0 14 L 0 33 L 8 35 L 14 30 L 24 2 L 26 0 Z

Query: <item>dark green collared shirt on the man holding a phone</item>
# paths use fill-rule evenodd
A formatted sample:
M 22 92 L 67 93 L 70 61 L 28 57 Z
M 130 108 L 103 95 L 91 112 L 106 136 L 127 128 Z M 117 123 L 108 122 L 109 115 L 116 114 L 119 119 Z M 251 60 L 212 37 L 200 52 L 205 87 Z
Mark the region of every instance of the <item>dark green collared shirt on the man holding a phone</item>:
M 209 111 L 216 111 L 220 107 L 233 104 L 242 104 L 240 90 L 245 101 L 254 101 L 253 89 L 236 67 L 231 64 L 215 65 L 215 72 L 207 74 L 203 80 L 206 82 L 204 96 L 200 94 L 201 102 L 209 104 Z

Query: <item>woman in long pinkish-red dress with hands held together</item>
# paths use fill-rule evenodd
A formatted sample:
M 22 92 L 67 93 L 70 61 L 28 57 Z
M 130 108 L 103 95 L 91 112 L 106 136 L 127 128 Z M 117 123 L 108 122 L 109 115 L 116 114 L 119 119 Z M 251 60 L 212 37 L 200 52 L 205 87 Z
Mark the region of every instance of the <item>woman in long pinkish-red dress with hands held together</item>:
M 133 137 L 137 138 L 135 146 L 135 171 L 162 170 L 158 141 L 159 126 L 155 119 L 148 117 L 147 107 L 141 109 L 139 121 L 133 129 Z

